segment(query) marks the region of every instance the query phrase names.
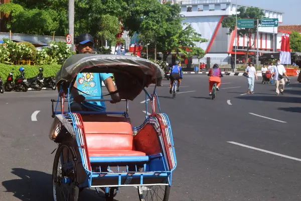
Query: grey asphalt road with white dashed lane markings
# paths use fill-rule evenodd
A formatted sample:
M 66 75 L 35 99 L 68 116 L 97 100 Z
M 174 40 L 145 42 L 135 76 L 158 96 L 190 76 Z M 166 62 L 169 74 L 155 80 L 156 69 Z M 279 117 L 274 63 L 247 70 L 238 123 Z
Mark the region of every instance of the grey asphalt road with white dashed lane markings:
M 284 95 L 260 81 L 254 94 L 245 94 L 245 77 L 224 76 L 212 100 L 207 76 L 184 75 L 176 99 L 163 80 L 158 94 L 178 160 L 170 200 L 301 200 L 301 85 L 295 82 Z M 57 145 L 48 134 L 56 97 L 52 90 L 0 94 L 0 200 L 52 200 Z M 129 104 L 133 126 L 144 121 L 143 100 L 141 94 Z M 107 104 L 108 111 L 123 108 Z M 121 188 L 115 199 L 138 200 L 137 189 Z M 85 189 L 80 200 L 104 199 Z

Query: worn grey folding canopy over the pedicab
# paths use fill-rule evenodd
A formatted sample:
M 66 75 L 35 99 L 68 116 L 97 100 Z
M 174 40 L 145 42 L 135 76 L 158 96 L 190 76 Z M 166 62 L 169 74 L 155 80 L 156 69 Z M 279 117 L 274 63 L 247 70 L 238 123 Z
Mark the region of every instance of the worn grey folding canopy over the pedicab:
M 147 59 L 123 55 L 76 54 L 69 57 L 56 74 L 58 90 L 65 93 L 80 72 L 113 73 L 120 98 L 133 100 L 144 87 L 163 78 L 161 67 Z M 70 87 L 71 89 L 72 87 Z

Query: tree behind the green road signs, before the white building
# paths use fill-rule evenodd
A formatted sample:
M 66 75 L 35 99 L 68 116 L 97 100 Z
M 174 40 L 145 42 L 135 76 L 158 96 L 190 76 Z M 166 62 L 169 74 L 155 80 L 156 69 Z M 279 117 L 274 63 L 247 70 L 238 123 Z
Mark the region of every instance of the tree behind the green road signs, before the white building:
M 240 7 L 237 9 L 237 20 L 254 19 L 256 21 L 257 19 L 260 20 L 261 18 L 264 18 L 264 17 L 265 17 L 265 15 L 264 15 L 263 11 L 256 7 L 248 7 L 248 8 Z M 259 21 L 259 24 L 261 24 L 260 21 Z M 228 35 L 230 35 L 233 31 L 235 31 L 235 25 L 236 25 L 235 15 L 226 17 L 222 21 L 222 27 L 229 29 L 229 32 L 227 33 Z M 249 41 L 249 35 L 251 34 L 251 36 L 252 36 L 252 34 L 256 34 L 256 33 L 257 33 L 257 23 L 254 23 L 254 28 L 252 28 L 252 29 L 245 28 L 245 29 L 237 30 L 237 34 L 240 37 L 245 36 L 248 40 L 247 41 L 248 47 L 247 47 L 247 50 L 245 53 L 245 62 L 248 61 L 248 54 L 249 54 L 250 48 L 254 46 L 254 43 L 249 45 L 251 43 L 251 41 Z

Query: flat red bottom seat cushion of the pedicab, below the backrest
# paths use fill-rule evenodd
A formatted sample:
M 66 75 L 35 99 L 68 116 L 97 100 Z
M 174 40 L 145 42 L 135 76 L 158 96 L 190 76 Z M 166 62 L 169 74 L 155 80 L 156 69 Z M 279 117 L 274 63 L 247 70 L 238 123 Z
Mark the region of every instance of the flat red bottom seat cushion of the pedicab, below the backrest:
M 133 150 L 89 150 L 90 157 L 97 156 L 145 156 L 145 153 Z

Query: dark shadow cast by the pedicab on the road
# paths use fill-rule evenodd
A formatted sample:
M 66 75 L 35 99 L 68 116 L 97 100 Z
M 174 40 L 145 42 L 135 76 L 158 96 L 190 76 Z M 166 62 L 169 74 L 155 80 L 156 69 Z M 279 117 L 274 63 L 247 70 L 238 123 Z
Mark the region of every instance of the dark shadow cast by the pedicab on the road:
M 51 174 L 23 168 L 13 168 L 12 173 L 20 178 L 3 181 L 6 192 L 13 192 L 22 201 L 53 201 Z M 85 189 L 79 193 L 78 201 L 84 200 L 105 201 L 105 198 L 95 190 Z

